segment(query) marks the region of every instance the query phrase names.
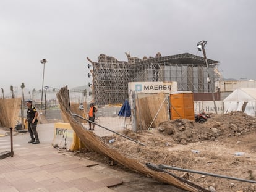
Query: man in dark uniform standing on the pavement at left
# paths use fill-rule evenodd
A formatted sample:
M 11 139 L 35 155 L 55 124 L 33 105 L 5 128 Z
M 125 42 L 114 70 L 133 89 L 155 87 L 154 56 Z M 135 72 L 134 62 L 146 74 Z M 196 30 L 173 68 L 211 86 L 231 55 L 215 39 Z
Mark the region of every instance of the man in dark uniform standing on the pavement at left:
M 26 105 L 28 107 L 26 121 L 28 122 L 28 132 L 31 138 L 28 143 L 39 144 L 38 133 L 36 131 L 38 112 L 36 111 L 36 108 L 32 106 L 32 101 L 26 101 Z

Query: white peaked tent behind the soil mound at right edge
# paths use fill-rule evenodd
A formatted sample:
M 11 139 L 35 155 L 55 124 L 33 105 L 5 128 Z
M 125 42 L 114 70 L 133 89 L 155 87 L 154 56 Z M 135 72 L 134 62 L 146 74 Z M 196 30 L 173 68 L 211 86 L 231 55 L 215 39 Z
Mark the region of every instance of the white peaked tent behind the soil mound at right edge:
M 256 117 L 256 88 L 237 88 L 224 100 L 224 113 L 243 111 Z

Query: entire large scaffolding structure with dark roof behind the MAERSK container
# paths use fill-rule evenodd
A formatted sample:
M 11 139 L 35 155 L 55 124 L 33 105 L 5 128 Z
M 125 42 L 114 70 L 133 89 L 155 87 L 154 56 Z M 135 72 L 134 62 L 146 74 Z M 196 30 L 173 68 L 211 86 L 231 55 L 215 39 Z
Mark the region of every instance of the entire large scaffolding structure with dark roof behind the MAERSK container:
M 114 57 L 100 54 L 98 62 L 93 66 L 93 96 L 98 105 L 122 103 L 128 98 L 129 82 L 176 81 L 178 91 L 193 91 L 194 93 L 210 93 L 210 79 L 216 80 L 216 65 L 218 61 L 184 53 L 174 56 L 164 56 L 158 52 L 155 57 L 131 57 L 127 61 L 118 61 Z M 215 90 L 215 88 L 213 89 Z

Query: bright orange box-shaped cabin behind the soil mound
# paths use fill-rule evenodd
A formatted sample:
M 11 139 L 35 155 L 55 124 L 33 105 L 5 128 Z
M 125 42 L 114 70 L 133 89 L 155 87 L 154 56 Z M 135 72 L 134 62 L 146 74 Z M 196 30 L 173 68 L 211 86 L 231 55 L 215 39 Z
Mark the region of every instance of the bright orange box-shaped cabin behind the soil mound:
M 170 94 L 170 116 L 173 119 L 194 120 L 194 98 L 190 91 Z

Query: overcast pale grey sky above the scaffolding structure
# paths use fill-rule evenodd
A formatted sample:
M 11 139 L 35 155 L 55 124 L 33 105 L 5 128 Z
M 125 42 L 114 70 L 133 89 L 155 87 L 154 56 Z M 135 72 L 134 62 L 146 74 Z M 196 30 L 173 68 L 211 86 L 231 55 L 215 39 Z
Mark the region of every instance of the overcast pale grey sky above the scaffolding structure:
M 1 0 L 0 88 L 41 89 L 88 85 L 89 62 L 99 54 L 127 61 L 197 52 L 208 41 L 209 59 L 224 78 L 255 77 L 254 0 Z

